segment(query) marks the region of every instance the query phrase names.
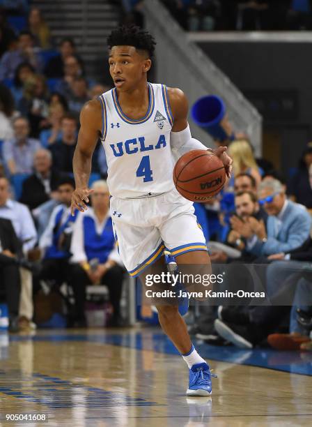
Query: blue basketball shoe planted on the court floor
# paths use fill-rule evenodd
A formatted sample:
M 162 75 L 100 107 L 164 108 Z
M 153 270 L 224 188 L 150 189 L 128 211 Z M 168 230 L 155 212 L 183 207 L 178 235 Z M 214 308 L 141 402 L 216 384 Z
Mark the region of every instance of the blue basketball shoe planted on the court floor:
M 193 365 L 189 370 L 187 396 L 210 396 L 212 391 L 211 377 L 217 377 L 217 375 L 210 372 L 208 364 Z

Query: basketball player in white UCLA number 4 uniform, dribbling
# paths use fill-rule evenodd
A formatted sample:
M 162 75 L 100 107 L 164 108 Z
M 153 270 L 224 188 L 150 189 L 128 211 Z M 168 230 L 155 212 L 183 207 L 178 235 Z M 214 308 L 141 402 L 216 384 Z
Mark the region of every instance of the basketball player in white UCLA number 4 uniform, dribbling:
M 191 136 L 188 105 L 180 89 L 150 84 L 147 73 L 155 41 L 138 27 L 120 27 L 108 38 L 109 70 L 114 89 L 91 100 L 81 110 L 81 128 L 73 168 L 76 190 L 72 212 L 87 209 L 91 158 L 98 137 L 107 157 L 111 218 L 118 249 L 131 276 L 146 283 L 146 275 L 162 271 L 164 248 L 180 266 L 210 267 L 203 232 L 196 223 L 192 202 L 173 185 L 173 152 L 207 149 Z M 226 147 L 214 153 L 228 177 L 231 159 Z M 210 368 L 196 352 L 178 306 L 159 304 L 159 323 L 189 367 L 187 396 L 211 394 Z

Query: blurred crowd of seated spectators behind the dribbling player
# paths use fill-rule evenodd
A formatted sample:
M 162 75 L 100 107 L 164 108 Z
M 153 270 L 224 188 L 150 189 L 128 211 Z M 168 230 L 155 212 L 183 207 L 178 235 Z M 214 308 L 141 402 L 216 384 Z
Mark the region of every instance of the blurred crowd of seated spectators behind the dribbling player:
M 111 3 L 120 22 L 143 25 L 142 1 Z M 311 27 L 311 2 L 304 0 L 163 3 L 189 31 Z M 40 8 L 26 0 L 0 1 L 0 292 L 12 332 L 36 324 L 94 325 L 86 308 L 92 312 L 98 301 L 87 301 L 88 285 L 101 283 L 108 290 L 100 306 L 103 324 L 123 324 L 125 271 L 114 245 L 100 142 L 93 156 L 92 207 L 86 215 L 69 212 L 79 111 L 109 89 L 107 75 L 95 80 L 86 73 L 74 38 L 52 38 Z M 209 203 L 195 204 L 195 211 L 214 269 L 226 264 L 235 278 L 226 282 L 228 289 L 237 283 L 252 289 L 242 265 L 260 264 L 263 287 L 275 304 L 237 301 L 191 309 L 189 329 L 218 345 L 309 347 L 312 304 L 302 301 L 311 294 L 312 142 L 306 141 L 297 167 L 283 176 L 270 159 L 254 156 L 252 138 L 241 129 L 232 140 L 214 142 L 228 145 L 233 177 Z M 290 293 L 290 304 L 279 304 L 281 294 Z

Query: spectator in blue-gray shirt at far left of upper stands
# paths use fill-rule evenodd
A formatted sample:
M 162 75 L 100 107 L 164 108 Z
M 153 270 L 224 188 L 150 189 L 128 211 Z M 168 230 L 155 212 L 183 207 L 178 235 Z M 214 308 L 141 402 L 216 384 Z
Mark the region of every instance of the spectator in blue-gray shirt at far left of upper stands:
M 0 80 L 13 79 L 16 68 L 22 62 L 29 62 L 40 73 L 42 59 L 38 54 L 38 48 L 33 47 L 33 36 L 29 31 L 21 31 L 17 43 L 12 50 L 6 52 L 0 61 Z

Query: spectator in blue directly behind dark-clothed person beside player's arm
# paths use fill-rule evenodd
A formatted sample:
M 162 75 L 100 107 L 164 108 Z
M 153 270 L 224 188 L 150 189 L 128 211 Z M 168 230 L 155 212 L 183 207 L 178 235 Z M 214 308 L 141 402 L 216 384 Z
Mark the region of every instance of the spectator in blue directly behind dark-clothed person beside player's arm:
M 51 103 L 49 105 L 49 116 L 47 121 L 49 123 L 49 128 L 41 130 L 40 132 L 40 142 L 42 147 L 49 147 L 49 145 L 54 144 L 54 142 L 61 140 L 61 121 L 65 115 L 65 108 L 63 104 Z

